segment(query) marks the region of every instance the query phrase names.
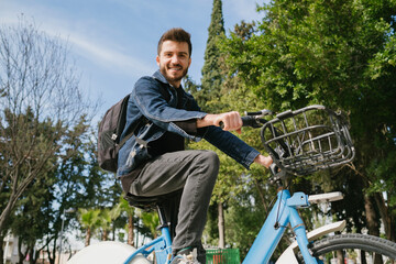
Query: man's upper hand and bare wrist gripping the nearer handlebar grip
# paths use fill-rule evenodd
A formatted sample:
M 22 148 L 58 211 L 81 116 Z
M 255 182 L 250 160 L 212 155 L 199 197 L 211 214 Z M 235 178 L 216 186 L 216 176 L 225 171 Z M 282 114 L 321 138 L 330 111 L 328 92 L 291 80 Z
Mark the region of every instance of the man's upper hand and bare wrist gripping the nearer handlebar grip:
M 204 128 L 209 125 L 220 127 L 220 123 L 223 124 L 224 131 L 237 131 L 241 134 L 242 119 L 239 112 L 226 112 L 219 114 L 207 114 L 202 119 L 197 120 L 197 128 Z

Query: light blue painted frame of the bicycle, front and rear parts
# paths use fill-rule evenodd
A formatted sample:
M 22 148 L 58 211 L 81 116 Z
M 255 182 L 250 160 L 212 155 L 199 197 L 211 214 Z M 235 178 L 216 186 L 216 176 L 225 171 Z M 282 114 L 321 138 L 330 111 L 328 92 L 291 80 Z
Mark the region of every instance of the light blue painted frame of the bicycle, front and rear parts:
M 287 189 L 279 190 L 277 194 L 277 201 L 244 258 L 243 264 L 268 263 L 289 223 L 296 234 L 296 240 L 305 263 L 317 264 L 317 260 L 312 257 L 308 251 L 306 229 L 297 211 L 298 208 L 308 206 L 308 196 L 306 194 L 296 193 L 290 196 L 290 193 Z M 169 229 L 167 226 L 163 226 L 161 231 L 161 237 L 138 249 L 124 264 L 129 264 L 133 257 L 139 254 L 147 256 L 153 251 L 155 252 L 156 262 L 158 264 L 169 264 L 172 257 Z

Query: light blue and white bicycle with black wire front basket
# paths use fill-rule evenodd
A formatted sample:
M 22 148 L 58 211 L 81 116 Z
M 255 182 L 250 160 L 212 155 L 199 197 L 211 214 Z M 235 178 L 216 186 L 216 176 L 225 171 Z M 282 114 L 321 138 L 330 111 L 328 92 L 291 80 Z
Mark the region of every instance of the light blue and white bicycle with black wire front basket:
M 308 196 L 299 191 L 290 195 L 283 185 L 290 177 L 334 168 L 354 158 L 355 151 L 342 114 L 319 105 L 278 113 L 271 121 L 264 119 L 271 114 L 274 113 L 262 110 L 248 112 L 246 117 L 242 118 L 245 127 L 261 128 L 262 142 L 274 161 L 271 166 L 271 182 L 278 187 L 277 200 L 243 264 L 268 263 L 287 226 L 294 232 L 295 241 L 278 257 L 277 264 L 333 263 L 334 256 L 341 256 L 345 262 L 344 257 L 352 255 L 371 260 L 372 263 L 378 257 L 386 263 L 395 263 L 394 242 L 361 233 L 334 234 L 344 229 L 345 220 L 306 231 L 298 209 L 308 208 L 311 204 L 340 200 L 343 198 L 341 193 Z M 161 208 L 161 200 L 166 197 L 127 196 L 125 199 L 140 208 L 156 207 L 161 220 L 161 237 L 138 250 L 120 242 L 101 242 L 84 249 L 72 257 L 68 264 L 147 264 L 152 262 L 146 257 L 153 252 L 157 264 L 170 262 L 172 240 Z

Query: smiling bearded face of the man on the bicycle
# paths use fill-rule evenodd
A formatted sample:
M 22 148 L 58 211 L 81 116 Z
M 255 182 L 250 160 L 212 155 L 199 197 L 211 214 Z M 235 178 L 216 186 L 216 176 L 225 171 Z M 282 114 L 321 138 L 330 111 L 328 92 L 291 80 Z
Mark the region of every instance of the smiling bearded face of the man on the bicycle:
M 174 87 L 179 87 L 191 64 L 188 44 L 186 42 L 165 41 L 156 62 L 167 81 Z

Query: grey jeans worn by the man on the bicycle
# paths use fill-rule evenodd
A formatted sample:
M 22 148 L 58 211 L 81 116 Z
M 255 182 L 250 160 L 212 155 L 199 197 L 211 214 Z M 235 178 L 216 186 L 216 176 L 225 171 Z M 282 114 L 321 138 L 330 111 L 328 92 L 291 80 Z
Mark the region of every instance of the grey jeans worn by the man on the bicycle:
M 218 172 L 219 157 L 215 152 L 172 152 L 145 164 L 131 184 L 130 193 L 135 196 L 161 196 L 180 190 L 165 206 L 170 233 L 175 234 L 174 253 L 194 246 L 198 248 L 198 256 L 205 256 L 201 237 Z M 204 258 L 199 261 L 205 263 Z

